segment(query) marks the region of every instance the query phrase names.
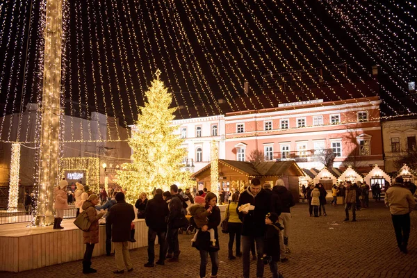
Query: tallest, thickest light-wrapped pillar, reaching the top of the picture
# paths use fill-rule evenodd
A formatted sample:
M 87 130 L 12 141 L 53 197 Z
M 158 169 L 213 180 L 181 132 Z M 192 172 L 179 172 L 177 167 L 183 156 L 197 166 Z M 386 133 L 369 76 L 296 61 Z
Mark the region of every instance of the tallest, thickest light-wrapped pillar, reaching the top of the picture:
M 63 0 L 47 0 L 40 138 L 40 185 L 36 224 L 54 222 L 54 186 L 58 183 L 60 79 Z

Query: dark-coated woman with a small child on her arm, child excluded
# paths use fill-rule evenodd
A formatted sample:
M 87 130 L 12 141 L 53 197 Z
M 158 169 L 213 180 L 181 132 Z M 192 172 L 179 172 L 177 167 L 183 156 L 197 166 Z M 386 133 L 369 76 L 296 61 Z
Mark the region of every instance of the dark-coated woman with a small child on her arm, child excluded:
M 216 205 L 218 202 L 217 196 L 209 192 L 204 197 L 206 201 L 205 208 L 212 208 L 210 215 L 208 215 L 208 223 L 204 225 L 201 231 L 197 234 L 197 238 L 193 246 L 199 250 L 200 254 L 200 266 L 199 266 L 199 277 L 206 277 L 206 266 L 208 255 L 211 259 L 211 275 L 210 278 L 217 278 L 219 270 L 219 234 L 218 225 L 221 221 L 220 208 Z M 215 245 L 213 246 L 210 241 L 210 234 L 206 231 L 209 229 L 214 230 Z

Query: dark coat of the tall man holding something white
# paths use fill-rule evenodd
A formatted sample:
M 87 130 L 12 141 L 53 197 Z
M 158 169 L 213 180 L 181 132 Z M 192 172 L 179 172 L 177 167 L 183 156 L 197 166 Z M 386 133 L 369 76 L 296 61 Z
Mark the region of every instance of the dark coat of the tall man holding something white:
M 240 213 L 239 206 L 250 203 L 255 206 L 249 213 Z M 254 197 L 250 193 L 250 187 L 240 194 L 238 208 L 239 219 L 243 223 L 242 236 L 264 236 L 265 235 L 265 215 L 271 211 L 271 194 L 267 190 L 261 189 Z

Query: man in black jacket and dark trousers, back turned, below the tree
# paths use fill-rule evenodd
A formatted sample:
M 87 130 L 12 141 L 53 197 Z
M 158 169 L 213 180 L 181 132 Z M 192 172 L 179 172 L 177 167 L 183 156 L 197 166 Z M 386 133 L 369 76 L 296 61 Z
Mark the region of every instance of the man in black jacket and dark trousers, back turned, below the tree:
M 154 199 L 147 202 L 145 208 L 145 222 L 148 229 L 148 262 L 145 263 L 145 268 L 154 267 L 155 260 L 155 238 L 158 236 L 159 242 L 159 260 L 157 265 L 165 264 L 165 236 L 167 234 L 167 224 L 165 218 L 168 216 L 167 202 L 162 197 L 162 190 L 156 189 Z

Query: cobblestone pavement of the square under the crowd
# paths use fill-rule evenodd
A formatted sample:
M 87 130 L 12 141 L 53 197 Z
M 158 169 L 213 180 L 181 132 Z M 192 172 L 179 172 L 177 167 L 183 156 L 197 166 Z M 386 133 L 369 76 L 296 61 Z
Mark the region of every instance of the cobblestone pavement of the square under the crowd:
M 292 209 L 293 227 L 289 261 L 279 264 L 284 277 L 417 277 L 417 212 L 411 214 L 409 254 L 402 254 L 395 243 L 391 215 L 381 203 L 357 211 L 358 222 L 343 222 L 343 206 L 327 205 L 327 216 L 310 218 L 308 206 L 297 204 Z M 133 272 L 113 275 L 114 257 L 92 259 L 98 272 L 89 277 L 198 277 L 199 253 L 190 247 L 192 236 L 180 235 L 180 262 L 144 268 L 147 247 L 131 250 Z M 220 235 L 220 270 L 218 277 L 242 277 L 242 262 L 227 259 L 228 235 Z M 157 249 L 158 247 L 156 247 Z M 156 254 L 158 251 L 156 250 Z M 210 274 L 210 263 L 207 273 Z M 251 277 L 256 265 L 252 262 Z M 81 277 L 81 261 L 52 265 L 38 270 L 1 277 Z M 271 277 L 268 267 L 264 277 Z

